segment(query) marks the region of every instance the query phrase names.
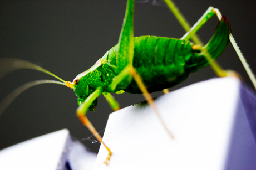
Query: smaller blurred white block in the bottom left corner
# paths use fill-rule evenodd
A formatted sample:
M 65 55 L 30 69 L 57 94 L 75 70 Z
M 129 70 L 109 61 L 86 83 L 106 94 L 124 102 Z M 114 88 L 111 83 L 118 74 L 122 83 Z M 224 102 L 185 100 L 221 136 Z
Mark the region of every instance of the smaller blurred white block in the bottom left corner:
M 0 169 L 56 170 L 68 136 L 64 129 L 1 150 Z

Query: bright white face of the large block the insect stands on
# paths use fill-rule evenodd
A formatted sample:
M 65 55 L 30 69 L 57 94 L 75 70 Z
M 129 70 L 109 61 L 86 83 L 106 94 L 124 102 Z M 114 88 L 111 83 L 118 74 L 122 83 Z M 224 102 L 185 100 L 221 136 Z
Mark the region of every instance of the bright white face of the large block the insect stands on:
M 167 135 L 152 109 L 129 106 L 110 114 L 95 169 L 223 169 L 240 81 L 219 78 L 193 84 L 157 99 Z

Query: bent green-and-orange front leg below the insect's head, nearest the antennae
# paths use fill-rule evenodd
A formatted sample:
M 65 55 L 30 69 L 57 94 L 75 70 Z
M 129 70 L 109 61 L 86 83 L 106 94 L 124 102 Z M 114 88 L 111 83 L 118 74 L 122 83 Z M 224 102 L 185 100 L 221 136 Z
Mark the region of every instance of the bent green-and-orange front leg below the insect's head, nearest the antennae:
M 97 87 L 94 92 L 90 96 L 87 97 L 87 99 L 82 102 L 82 104 L 77 108 L 76 114 L 80 121 L 85 125 L 91 132 L 92 135 L 97 138 L 97 140 L 102 143 L 106 150 L 109 151 L 109 155 L 107 156 L 106 161 L 104 162 L 105 164 L 109 163 L 110 157 L 111 157 L 111 151 L 110 148 L 105 145 L 105 143 L 102 141 L 102 137 L 99 135 L 99 133 L 96 131 L 96 129 L 92 126 L 92 123 L 88 120 L 88 118 L 85 116 L 87 108 L 92 104 L 92 102 L 101 95 L 102 88 Z

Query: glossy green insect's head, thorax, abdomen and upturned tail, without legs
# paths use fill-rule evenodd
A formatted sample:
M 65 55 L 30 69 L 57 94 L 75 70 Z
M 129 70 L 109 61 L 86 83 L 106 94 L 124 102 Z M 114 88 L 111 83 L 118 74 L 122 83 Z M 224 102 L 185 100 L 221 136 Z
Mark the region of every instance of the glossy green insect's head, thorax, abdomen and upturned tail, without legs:
M 211 56 L 219 56 L 228 44 L 229 29 L 222 21 L 218 29 L 205 45 Z M 190 73 L 197 71 L 209 61 L 204 54 L 192 49 L 193 44 L 186 40 L 142 36 L 134 38 L 133 66 L 144 81 L 149 92 L 173 87 L 184 81 Z M 119 74 L 116 62 L 117 45 L 96 62 L 87 71 L 78 74 L 79 83 L 74 88 L 78 98 L 86 99 L 96 87 L 106 92 L 123 90 L 132 94 L 141 94 L 134 80 L 130 84 L 120 83 L 115 91 L 109 90 L 113 78 Z

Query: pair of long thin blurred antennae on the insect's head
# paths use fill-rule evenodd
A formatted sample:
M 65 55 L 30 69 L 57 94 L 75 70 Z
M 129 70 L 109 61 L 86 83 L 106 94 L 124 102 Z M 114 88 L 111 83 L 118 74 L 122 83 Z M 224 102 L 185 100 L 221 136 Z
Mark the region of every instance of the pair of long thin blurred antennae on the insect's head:
M 24 90 L 28 89 L 29 87 L 39 85 L 39 84 L 46 84 L 46 83 L 53 83 L 53 84 L 60 84 L 60 85 L 66 85 L 65 80 L 62 80 L 58 76 L 52 74 L 50 71 L 47 71 L 40 66 L 30 63 L 28 61 L 20 60 L 20 59 L 0 59 L 0 79 L 3 78 L 3 76 L 7 75 L 8 73 L 11 73 L 12 71 L 18 70 L 18 69 L 33 69 L 33 70 L 38 70 L 43 73 L 49 74 L 58 80 L 61 81 L 55 81 L 55 80 L 36 80 L 36 81 L 31 81 L 29 83 L 26 83 L 22 86 L 17 87 L 17 89 L 13 90 L 11 94 L 6 96 L 3 101 L 0 103 L 0 116 L 3 114 L 4 110 L 11 104 L 11 102 L 19 95 L 21 94 Z

